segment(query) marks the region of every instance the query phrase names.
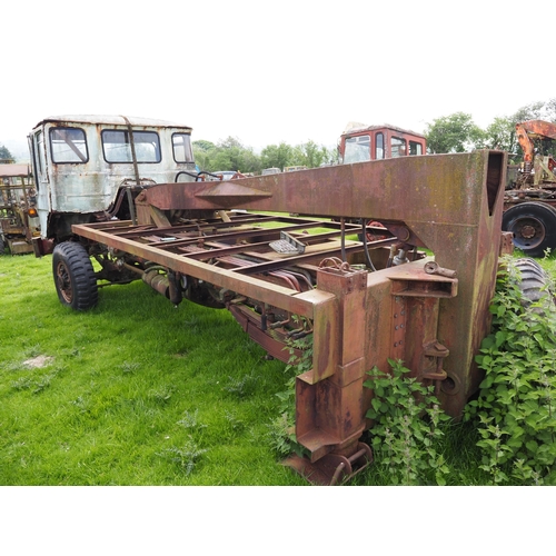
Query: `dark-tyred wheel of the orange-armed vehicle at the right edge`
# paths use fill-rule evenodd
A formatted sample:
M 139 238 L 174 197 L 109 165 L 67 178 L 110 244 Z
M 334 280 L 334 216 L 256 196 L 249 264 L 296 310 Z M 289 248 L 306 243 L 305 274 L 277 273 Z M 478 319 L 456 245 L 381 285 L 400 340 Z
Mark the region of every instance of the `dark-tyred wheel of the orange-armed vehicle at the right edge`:
M 502 217 L 502 229 L 514 234 L 514 245 L 529 257 L 556 247 L 556 210 L 542 202 L 523 202 Z

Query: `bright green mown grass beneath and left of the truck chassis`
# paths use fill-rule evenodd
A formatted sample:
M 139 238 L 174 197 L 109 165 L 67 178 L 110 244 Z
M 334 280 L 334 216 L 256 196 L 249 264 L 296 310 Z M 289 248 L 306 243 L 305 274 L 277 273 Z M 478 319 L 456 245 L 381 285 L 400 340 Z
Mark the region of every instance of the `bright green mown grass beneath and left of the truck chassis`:
M 554 258 L 542 264 L 552 275 Z M 1 485 L 305 485 L 270 439 L 289 378 L 226 310 L 142 282 L 64 308 L 51 257 L 0 257 Z M 445 438 L 448 484 L 487 484 L 476 435 Z M 378 466 L 354 485 L 388 485 Z

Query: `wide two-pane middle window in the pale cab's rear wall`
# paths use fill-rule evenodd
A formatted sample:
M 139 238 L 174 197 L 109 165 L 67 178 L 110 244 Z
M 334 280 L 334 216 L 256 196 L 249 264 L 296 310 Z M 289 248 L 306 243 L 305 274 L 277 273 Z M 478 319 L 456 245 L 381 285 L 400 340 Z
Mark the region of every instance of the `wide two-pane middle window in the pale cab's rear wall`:
M 160 140 L 155 131 L 132 131 L 138 162 L 160 162 Z M 129 131 L 102 130 L 102 151 L 107 162 L 132 162 Z

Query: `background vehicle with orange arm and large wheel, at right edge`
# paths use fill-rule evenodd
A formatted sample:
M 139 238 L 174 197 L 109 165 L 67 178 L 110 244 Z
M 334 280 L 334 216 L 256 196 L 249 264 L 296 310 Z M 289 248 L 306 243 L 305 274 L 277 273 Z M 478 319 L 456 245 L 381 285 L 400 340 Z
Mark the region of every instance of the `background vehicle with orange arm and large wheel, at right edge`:
M 556 123 L 529 120 L 516 125 L 524 160 L 505 191 L 503 229 L 530 257 L 556 248 Z

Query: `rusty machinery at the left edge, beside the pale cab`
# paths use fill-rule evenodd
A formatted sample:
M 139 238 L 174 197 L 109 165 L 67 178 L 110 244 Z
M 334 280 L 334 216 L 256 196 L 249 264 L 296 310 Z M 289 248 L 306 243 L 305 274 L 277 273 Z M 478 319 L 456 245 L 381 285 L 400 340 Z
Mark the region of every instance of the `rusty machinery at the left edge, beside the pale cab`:
M 0 255 L 33 251 L 39 236 L 36 190 L 28 165 L 0 165 Z

